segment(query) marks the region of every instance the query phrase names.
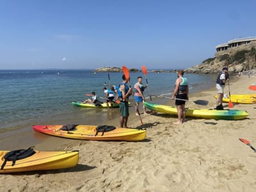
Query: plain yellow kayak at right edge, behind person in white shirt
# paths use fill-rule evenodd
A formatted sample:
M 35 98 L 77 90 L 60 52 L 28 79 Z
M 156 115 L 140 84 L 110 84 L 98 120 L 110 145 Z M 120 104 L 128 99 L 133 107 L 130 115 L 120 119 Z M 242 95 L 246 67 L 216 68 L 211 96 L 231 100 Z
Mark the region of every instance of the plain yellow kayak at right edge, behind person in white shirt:
M 215 98 L 217 99 L 217 95 L 215 95 Z M 231 102 L 234 103 L 240 103 L 240 104 L 254 104 L 256 103 L 256 94 L 242 94 L 242 95 L 225 95 L 223 97 L 223 102 Z

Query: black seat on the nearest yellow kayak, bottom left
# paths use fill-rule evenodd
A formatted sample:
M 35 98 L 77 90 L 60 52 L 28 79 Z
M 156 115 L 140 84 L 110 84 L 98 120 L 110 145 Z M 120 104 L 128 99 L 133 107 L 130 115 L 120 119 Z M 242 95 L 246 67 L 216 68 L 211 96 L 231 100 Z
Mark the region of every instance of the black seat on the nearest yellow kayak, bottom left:
M 12 161 L 12 166 L 15 165 L 17 160 L 25 159 L 27 157 L 33 156 L 35 154 L 34 147 L 29 147 L 28 149 L 19 149 L 19 150 L 12 150 L 5 154 L 4 156 L 4 163 L 1 166 L 1 170 L 3 170 L 7 161 Z

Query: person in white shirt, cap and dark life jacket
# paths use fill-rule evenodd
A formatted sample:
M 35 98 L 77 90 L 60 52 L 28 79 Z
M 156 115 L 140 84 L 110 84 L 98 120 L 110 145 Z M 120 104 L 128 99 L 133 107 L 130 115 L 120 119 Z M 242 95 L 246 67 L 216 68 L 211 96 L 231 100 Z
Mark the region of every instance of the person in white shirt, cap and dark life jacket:
M 228 68 L 223 67 L 222 72 L 220 72 L 216 79 L 216 89 L 217 89 L 217 100 L 216 109 L 223 110 L 222 100 L 224 94 L 225 83 L 228 81 Z

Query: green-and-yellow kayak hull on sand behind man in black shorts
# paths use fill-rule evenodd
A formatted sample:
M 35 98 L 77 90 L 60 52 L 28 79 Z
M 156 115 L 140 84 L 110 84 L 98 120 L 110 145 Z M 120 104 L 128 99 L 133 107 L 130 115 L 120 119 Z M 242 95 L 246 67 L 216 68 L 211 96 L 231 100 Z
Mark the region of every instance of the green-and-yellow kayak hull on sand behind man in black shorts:
M 177 115 L 177 108 L 171 106 L 164 106 L 150 102 L 144 102 L 144 106 L 150 110 L 159 113 L 166 113 Z M 216 109 L 186 109 L 186 116 L 193 116 L 197 118 L 210 118 L 216 120 L 239 120 L 246 118 L 248 113 L 242 110 L 216 110 Z

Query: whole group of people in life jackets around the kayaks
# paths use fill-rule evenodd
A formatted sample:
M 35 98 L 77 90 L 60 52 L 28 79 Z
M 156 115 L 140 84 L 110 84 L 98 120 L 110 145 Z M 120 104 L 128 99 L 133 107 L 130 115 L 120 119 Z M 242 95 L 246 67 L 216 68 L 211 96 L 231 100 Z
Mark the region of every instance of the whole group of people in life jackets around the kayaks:
M 185 122 L 185 104 L 186 100 L 189 99 L 189 85 L 188 79 L 184 76 L 184 70 L 179 70 L 177 72 L 177 79 L 175 81 L 175 88 L 172 93 L 172 100 L 175 99 L 175 106 L 177 108 L 178 120 L 174 124 L 182 124 Z M 103 88 L 105 97 L 107 102 L 107 106 L 110 103 L 113 106 L 113 100 L 119 100 L 119 108 L 120 108 L 120 127 L 127 127 L 127 122 L 129 118 L 129 97 L 134 95 L 134 100 L 136 102 L 135 106 L 135 114 L 140 115 L 138 110 L 140 102 L 145 101 L 145 96 L 143 92 L 145 88 L 148 87 L 148 84 L 143 85 L 142 77 L 138 77 L 138 82 L 134 84 L 134 92 L 131 86 L 128 85 L 130 79 L 126 79 L 125 75 L 122 76 L 122 83 L 118 86 L 111 86 L 111 90 L 108 90 L 106 87 Z M 218 97 L 216 100 L 216 109 L 222 110 L 222 100 L 223 100 L 223 88 L 225 87 L 225 83 L 228 81 L 228 68 L 223 67 L 220 74 L 216 79 L 216 89 L 218 92 Z M 84 102 L 98 102 L 98 97 L 95 95 L 95 92 L 92 92 L 92 99 L 87 99 Z M 143 106 L 144 115 L 148 115 L 145 106 Z

